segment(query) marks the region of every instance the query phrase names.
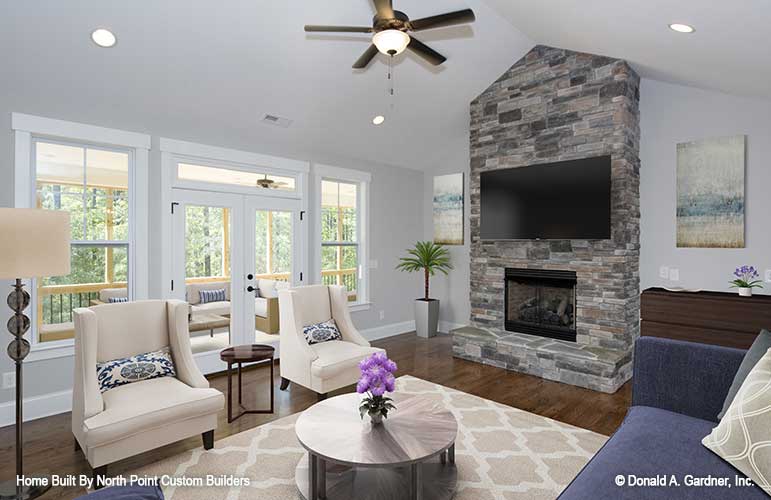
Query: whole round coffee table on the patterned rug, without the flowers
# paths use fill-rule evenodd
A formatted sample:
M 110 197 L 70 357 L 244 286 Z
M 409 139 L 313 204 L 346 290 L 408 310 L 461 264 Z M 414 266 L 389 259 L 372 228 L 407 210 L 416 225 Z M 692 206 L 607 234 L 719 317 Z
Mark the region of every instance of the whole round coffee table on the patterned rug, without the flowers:
M 359 417 L 359 394 L 317 403 L 297 419 L 308 450 L 295 480 L 307 500 L 439 500 L 455 494 L 458 422 L 444 406 L 416 395 L 394 396 L 397 409 L 380 425 Z M 409 493 L 408 493 L 409 492 Z

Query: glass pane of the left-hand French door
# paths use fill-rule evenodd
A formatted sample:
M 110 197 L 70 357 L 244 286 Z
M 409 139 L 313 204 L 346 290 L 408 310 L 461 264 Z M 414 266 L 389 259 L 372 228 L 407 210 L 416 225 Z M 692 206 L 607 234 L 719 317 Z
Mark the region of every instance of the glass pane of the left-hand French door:
M 185 206 L 185 297 L 194 353 L 231 344 L 230 241 L 228 208 Z

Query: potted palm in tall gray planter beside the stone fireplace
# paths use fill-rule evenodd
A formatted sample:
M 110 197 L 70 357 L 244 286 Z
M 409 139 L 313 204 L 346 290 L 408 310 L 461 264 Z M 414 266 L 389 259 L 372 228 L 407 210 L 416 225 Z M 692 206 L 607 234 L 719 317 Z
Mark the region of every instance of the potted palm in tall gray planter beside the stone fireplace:
M 452 269 L 450 255 L 446 248 L 433 241 L 419 241 L 407 253 L 410 256 L 399 259 L 401 263 L 396 269 L 408 273 L 423 272 L 425 294 L 423 298 L 415 299 L 415 330 L 419 337 L 433 337 L 439 326 L 439 300 L 429 295 L 428 282 L 437 271 L 447 274 Z

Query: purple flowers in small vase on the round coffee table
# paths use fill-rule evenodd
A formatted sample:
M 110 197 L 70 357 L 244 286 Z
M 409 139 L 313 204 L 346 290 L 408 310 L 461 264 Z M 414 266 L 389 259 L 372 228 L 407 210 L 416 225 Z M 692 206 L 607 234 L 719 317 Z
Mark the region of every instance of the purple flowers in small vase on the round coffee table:
M 396 363 L 385 353 L 376 352 L 359 363 L 359 370 L 361 378 L 356 384 L 356 392 L 367 393 L 359 406 L 359 414 L 361 418 L 368 414 L 373 424 L 379 424 L 383 418 L 388 418 L 389 411 L 396 409 L 393 400 L 385 396 L 396 388 Z

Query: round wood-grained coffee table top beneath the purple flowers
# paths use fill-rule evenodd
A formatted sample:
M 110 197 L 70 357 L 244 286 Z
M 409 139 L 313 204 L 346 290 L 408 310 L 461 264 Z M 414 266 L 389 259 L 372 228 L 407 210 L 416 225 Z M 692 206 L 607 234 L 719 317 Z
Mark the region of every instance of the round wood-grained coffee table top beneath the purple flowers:
M 394 395 L 396 410 L 380 425 L 359 416 L 359 394 L 321 401 L 297 419 L 295 431 L 309 452 L 337 464 L 399 467 L 424 462 L 455 443 L 458 422 L 439 401 Z

